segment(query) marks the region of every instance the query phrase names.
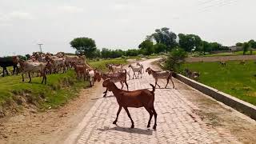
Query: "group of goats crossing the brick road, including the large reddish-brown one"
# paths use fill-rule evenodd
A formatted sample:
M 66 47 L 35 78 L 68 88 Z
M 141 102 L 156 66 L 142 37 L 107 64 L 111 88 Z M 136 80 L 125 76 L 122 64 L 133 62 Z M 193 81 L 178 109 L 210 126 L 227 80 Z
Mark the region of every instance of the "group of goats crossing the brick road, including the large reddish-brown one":
M 102 86 L 106 87 L 106 91 L 103 93 L 104 94 L 103 97 L 106 97 L 107 90 L 112 91 L 119 105 L 117 117 L 114 120 L 113 124 L 116 124 L 118 122 L 118 116 L 120 114 L 120 111 L 122 110 L 122 108 L 124 108 L 132 123 L 130 127 L 134 128 L 134 121 L 130 117 L 130 112 L 128 110 L 128 107 L 134 107 L 134 108 L 144 107 L 147 110 L 147 112 L 150 114 L 150 119 L 147 124 L 147 127 L 150 127 L 151 118 L 154 115 L 153 129 L 155 130 L 157 126 L 157 115 L 158 115 L 154 110 L 155 86 L 160 87 L 158 85 L 158 79 L 166 79 L 166 82 L 167 82 L 166 86 L 168 85 L 170 80 L 174 87 L 174 82 L 172 80 L 173 73 L 171 71 L 155 71 L 155 70 L 152 70 L 150 67 L 148 67 L 146 69 L 146 73 L 152 74 L 153 78 L 155 79 L 154 85 L 150 84 L 153 90 L 150 91 L 147 89 L 143 89 L 143 90 L 128 91 L 129 88 L 126 82 L 126 79 L 127 79 L 126 76 L 128 75 L 130 79 L 130 69 L 133 70 L 134 72 L 133 78 L 134 77 L 139 78 L 139 75 L 141 75 L 141 78 L 142 78 L 142 73 L 144 73 L 144 66 L 140 63 L 137 63 L 136 66 L 129 65 L 128 68 L 130 69 L 128 71 L 124 69 L 122 65 L 107 64 L 106 66 L 109 68 L 109 73 L 102 74 L 102 79 L 104 80 L 104 82 L 102 83 Z M 122 88 L 118 89 L 118 87 L 115 85 L 115 82 L 120 82 L 122 85 L 122 88 L 125 83 L 127 90 L 122 90 Z

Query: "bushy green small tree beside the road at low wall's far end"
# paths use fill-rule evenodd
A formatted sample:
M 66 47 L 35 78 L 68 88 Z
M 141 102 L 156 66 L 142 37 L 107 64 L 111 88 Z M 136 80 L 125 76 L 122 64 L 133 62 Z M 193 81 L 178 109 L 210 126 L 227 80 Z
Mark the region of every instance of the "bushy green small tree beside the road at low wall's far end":
M 187 57 L 186 51 L 181 48 L 174 48 L 170 51 L 170 54 L 166 61 L 166 68 L 168 70 L 178 71 L 180 66 Z

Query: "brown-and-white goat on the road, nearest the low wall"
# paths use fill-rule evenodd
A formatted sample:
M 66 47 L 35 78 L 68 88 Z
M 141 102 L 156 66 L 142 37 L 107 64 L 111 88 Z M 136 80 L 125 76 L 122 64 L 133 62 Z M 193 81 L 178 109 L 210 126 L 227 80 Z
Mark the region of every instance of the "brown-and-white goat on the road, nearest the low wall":
M 166 81 L 167 81 L 166 87 L 167 87 L 167 85 L 169 83 L 169 80 L 170 80 L 173 83 L 173 88 L 174 88 L 174 81 L 173 81 L 173 78 L 172 78 L 173 73 L 171 71 L 168 71 L 168 70 L 166 70 L 166 71 L 154 71 L 150 67 L 148 67 L 146 69 L 146 72 L 148 74 L 152 74 L 152 76 L 155 80 L 155 86 L 158 85 L 158 79 L 166 79 Z M 166 89 L 166 87 L 165 87 L 165 89 Z M 160 88 L 160 86 L 159 86 L 159 88 Z

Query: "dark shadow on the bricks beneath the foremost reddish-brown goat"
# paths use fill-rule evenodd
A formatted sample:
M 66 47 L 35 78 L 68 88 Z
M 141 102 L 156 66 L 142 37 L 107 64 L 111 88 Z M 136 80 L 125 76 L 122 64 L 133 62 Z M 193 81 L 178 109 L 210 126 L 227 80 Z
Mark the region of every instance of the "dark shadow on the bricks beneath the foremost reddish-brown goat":
M 97 129 L 100 131 L 110 131 L 110 130 L 118 130 L 118 131 L 122 131 L 122 132 L 126 132 L 126 133 L 133 133 L 133 134 L 145 134 L 145 135 L 152 135 L 153 134 L 153 130 L 147 129 L 147 130 L 143 130 L 143 129 L 138 129 L 138 128 L 128 128 L 128 127 L 121 127 L 116 125 L 116 127 L 112 127 L 109 128 L 107 126 L 104 126 L 103 129 Z

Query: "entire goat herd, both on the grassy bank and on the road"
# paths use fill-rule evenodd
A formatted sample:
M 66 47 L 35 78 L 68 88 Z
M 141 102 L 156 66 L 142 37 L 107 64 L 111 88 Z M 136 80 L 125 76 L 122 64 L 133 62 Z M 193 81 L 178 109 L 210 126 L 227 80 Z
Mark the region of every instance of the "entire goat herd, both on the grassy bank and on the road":
M 66 70 L 74 68 L 75 73 L 77 74 L 78 78 L 84 78 L 84 81 L 87 79 L 90 80 L 90 86 L 94 85 L 94 82 L 100 82 L 101 79 L 104 80 L 102 83 L 103 87 L 106 87 L 106 91 L 103 93 L 104 97 L 106 97 L 107 91 L 112 91 L 114 96 L 117 98 L 119 109 L 117 118 L 113 122 L 116 124 L 118 122 L 118 115 L 122 108 L 126 110 L 128 117 L 132 122 L 131 128 L 134 128 L 134 121 L 130 117 L 129 110 L 127 107 L 145 107 L 148 113 L 150 114 L 150 120 L 148 122 L 147 127 L 150 127 L 151 118 L 154 115 L 154 126 L 153 128 L 156 129 L 156 122 L 157 122 L 157 113 L 154 110 L 154 90 L 155 86 L 158 85 L 158 79 L 166 79 L 168 85 L 169 81 L 172 82 L 174 88 L 174 82 L 172 80 L 172 72 L 171 71 L 155 71 L 152 70 L 150 67 L 146 69 L 146 73 L 152 74 L 153 78 L 155 79 L 155 85 L 150 86 L 153 87 L 153 90 L 134 90 L 128 91 L 128 84 L 126 82 L 126 76 L 129 76 L 130 79 L 130 69 L 133 70 L 133 78 L 139 78 L 139 75 L 144 73 L 144 66 L 141 63 L 137 63 L 136 66 L 129 65 L 129 70 L 127 71 L 123 65 L 115 65 L 115 64 L 106 64 L 106 67 L 109 69 L 108 73 L 102 73 L 101 70 L 97 70 L 92 68 L 90 65 L 86 63 L 86 58 L 83 56 L 75 56 L 75 55 L 65 55 L 62 52 L 58 54 L 43 54 L 43 53 L 33 53 L 30 56 L 30 59 L 24 61 L 17 56 L 10 57 L 10 58 L 0 58 L 0 66 L 3 68 L 2 76 L 4 77 L 5 74 L 8 74 L 8 70 L 6 67 L 13 66 L 13 74 L 18 74 L 20 72 L 22 74 L 22 82 L 24 82 L 23 74 L 28 74 L 31 82 L 31 74 L 40 74 L 42 77 L 42 83 L 45 82 L 46 84 L 46 75 L 47 74 L 56 74 L 59 72 L 65 73 Z M 137 74 L 137 75 L 136 75 Z M 127 91 L 118 89 L 115 85 L 115 82 L 120 82 L 122 88 L 124 84 L 126 84 Z M 165 86 L 165 88 L 166 88 Z M 160 88 L 160 86 L 159 86 Z

